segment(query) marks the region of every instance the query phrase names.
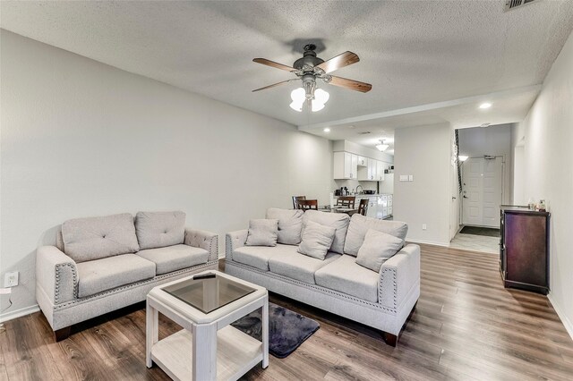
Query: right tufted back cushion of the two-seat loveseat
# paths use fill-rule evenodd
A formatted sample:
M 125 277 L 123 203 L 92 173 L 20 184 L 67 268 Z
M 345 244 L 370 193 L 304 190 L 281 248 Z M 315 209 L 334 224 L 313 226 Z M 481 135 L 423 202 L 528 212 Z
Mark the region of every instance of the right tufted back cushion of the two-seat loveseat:
M 163 248 L 183 243 L 184 212 L 138 212 L 135 231 L 141 250 Z

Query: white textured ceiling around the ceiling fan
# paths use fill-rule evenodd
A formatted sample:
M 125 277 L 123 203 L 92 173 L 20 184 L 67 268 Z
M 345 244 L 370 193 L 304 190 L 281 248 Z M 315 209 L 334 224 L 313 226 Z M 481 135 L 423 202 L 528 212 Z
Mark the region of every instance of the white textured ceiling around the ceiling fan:
M 0 21 L 6 30 L 304 129 L 541 83 L 573 29 L 573 1 L 539 0 L 507 13 L 503 4 L 3 1 Z M 294 77 L 252 58 L 290 65 L 311 41 L 323 59 L 359 55 L 334 74 L 372 83 L 372 91 L 324 85 L 327 106 L 302 114 L 288 107 L 297 82 L 251 92 Z

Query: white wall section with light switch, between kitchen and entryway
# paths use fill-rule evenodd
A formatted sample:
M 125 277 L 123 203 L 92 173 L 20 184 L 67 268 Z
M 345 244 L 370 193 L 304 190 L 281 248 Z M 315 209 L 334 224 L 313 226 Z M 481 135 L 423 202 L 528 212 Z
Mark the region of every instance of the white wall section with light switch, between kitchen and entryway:
M 449 124 L 399 128 L 394 144 L 394 219 L 408 224 L 409 241 L 448 245 Z M 414 182 L 400 182 L 400 174 L 414 175 Z

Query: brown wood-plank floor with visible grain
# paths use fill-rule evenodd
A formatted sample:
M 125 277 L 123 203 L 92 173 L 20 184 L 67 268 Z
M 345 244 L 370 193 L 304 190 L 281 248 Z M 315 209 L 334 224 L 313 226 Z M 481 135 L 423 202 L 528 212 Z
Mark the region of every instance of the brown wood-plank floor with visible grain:
M 573 379 L 573 341 L 546 297 L 504 289 L 496 255 L 421 246 L 422 295 L 396 348 L 372 328 L 272 294 L 321 328 L 244 379 Z M 74 326 L 60 343 L 41 313 L 5 328 L 0 380 L 168 379 L 145 367 L 144 304 Z M 161 318 L 159 337 L 178 329 Z

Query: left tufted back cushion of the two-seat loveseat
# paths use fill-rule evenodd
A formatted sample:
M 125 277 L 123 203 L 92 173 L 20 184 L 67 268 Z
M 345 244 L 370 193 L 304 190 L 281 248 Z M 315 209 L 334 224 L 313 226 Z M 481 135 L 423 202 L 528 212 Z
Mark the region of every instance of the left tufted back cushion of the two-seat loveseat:
M 65 254 L 76 263 L 140 249 L 129 213 L 68 220 L 62 224 L 62 237 Z

